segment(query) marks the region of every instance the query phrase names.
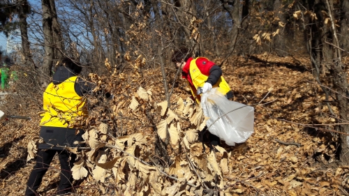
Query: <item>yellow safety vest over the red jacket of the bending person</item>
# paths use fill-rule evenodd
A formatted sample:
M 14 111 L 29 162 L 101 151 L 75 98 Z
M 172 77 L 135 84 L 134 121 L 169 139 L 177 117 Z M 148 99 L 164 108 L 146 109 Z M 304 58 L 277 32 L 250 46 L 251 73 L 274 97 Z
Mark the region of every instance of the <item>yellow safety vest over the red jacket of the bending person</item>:
M 205 57 L 198 57 L 198 58 L 205 58 Z M 196 58 L 196 59 L 198 59 L 198 58 Z M 195 89 L 198 89 L 198 87 L 204 86 L 204 83 L 209 76 L 203 75 L 201 73 L 200 69 L 196 65 L 196 59 L 193 59 L 191 61 L 189 73 L 191 75 L 191 81 L 193 82 Z M 205 59 L 207 59 L 207 58 L 205 58 Z M 209 59 L 207 59 L 207 61 L 209 61 Z M 218 87 L 218 91 L 223 93 L 223 95 L 225 95 L 226 93 L 228 93 L 230 91 L 229 84 L 227 82 L 225 82 L 223 76 L 221 76 L 219 78 L 218 82 L 212 86 L 212 88 L 215 88 L 215 87 Z M 200 100 L 198 100 L 198 97 L 195 95 L 195 93 L 193 92 L 192 89 L 191 89 L 191 93 L 193 94 L 193 97 L 196 98 L 196 101 L 198 103 L 200 103 Z

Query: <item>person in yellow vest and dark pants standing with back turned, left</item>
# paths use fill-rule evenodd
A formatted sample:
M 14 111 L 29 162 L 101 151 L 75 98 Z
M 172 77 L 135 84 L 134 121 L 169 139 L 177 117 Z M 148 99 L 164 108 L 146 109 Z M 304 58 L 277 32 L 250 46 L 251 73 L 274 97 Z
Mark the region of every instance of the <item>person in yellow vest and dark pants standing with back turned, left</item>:
M 47 172 L 54 155 L 58 153 L 61 164 L 60 181 L 57 195 L 69 193 L 72 188 L 73 167 L 76 155 L 65 150 L 64 146 L 79 147 L 75 141 L 82 141 L 83 130 L 73 128 L 77 117 L 87 117 L 84 94 L 91 93 L 91 84 L 77 75 L 82 66 L 77 61 L 64 58 L 54 73 L 52 82 L 43 93 L 43 110 L 40 121 L 40 137 L 45 141 L 39 144 L 36 165 L 31 171 L 25 195 L 38 195 L 36 190 Z

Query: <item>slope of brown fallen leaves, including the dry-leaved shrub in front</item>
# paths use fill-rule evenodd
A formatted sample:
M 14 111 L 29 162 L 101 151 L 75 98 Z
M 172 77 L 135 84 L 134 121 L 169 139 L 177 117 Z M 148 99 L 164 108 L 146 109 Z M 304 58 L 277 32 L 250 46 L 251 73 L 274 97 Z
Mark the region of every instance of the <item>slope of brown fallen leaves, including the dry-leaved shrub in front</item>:
M 90 149 L 78 152 L 80 160 L 72 169 L 74 178 L 82 179 L 74 183 L 75 194 L 348 195 L 349 168 L 336 165 L 335 135 L 311 125 L 336 119 L 323 104 L 325 96 L 308 61 L 252 59 L 232 58 L 222 69 L 235 101 L 255 107 L 255 133 L 243 144 L 223 143 L 215 151 L 204 150 L 198 141 L 205 117 L 188 99 L 185 81 L 174 85 L 168 104 L 160 70 L 140 70 L 135 62 L 121 75 L 112 70 L 110 77 L 90 75 L 98 89 L 111 91 L 114 98 L 91 97 L 89 119 L 76 123 L 87 130 Z M 170 90 L 174 73 L 168 69 Z M 34 166 L 26 164 L 26 151 L 38 142 L 40 106 L 26 106 L 30 113 L 24 106 L 17 106 L 17 112 L 30 114 L 33 121 L 1 125 L 3 195 L 24 195 Z M 332 110 L 338 112 L 335 105 Z M 58 172 L 55 159 L 40 194 L 54 194 Z

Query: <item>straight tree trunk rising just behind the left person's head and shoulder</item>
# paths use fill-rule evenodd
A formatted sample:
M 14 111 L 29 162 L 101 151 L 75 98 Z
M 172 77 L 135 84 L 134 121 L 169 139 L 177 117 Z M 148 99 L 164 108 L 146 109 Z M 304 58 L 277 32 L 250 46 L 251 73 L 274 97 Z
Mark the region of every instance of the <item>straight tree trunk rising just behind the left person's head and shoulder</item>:
M 40 84 L 47 86 L 49 78 L 52 75 L 52 63 L 54 58 L 53 32 L 52 32 L 52 11 L 50 0 L 42 0 L 43 7 L 43 33 L 44 33 L 44 49 L 45 56 L 43 60 L 43 67 L 41 68 Z

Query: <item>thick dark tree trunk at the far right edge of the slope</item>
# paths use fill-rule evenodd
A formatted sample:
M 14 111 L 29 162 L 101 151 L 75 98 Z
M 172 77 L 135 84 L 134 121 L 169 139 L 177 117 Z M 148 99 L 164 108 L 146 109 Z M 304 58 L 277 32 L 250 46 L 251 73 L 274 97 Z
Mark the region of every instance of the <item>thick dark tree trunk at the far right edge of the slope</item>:
M 334 7 L 329 3 L 329 0 L 312 0 L 308 1 L 309 10 L 316 10 L 315 14 L 318 17 L 318 20 L 311 21 L 309 19 L 309 26 L 306 27 L 304 24 L 304 34 L 306 35 L 307 48 L 311 57 L 311 63 L 314 69 L 313 76 L 315 80 L 320 84 L 322 91 L 325 92 L 326 100 L 328 100 L 329 93 L 325 87 L 320 82 L 320 66 L 322 69 L 329 69 L 329 75 L 332 79 L 332 85 L 334 92 L 336 92 L 336 101 L 339 107 L 339 123 L 347 122 L 349 120 L 349 104 L 346 96 L 348 89 L 348 79 L 346 71 L 341 60 L 342 50 L 339 47 L 339 38 L 337 37 L 336 27 L 334 22 Z M 330 26 L 325 24 L 324 18 L 322 17 L 322 11 L 326 11 L 329 15 Z M 303 16 L 304 17 L 304 16 Z M 306 29 L 309 31 L 306 31 Z M 326 64 L 327 63 L 327 64 Z M 322 70 L 322 74 L 325 75 L 327 70 Z M 335 115 L 332 111 L 329 103 L 329 112 L 332 115 Z M 349 125 L 339 125 L 337 127 L 342 133 L 349 133 Z M 349 163 L 349 137 L 347 135 L 339 135 L 341 139 L 341 151 L 340 159 L 341 164 L 348 165 Z

